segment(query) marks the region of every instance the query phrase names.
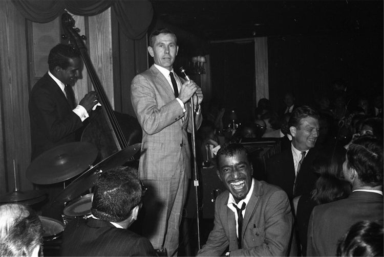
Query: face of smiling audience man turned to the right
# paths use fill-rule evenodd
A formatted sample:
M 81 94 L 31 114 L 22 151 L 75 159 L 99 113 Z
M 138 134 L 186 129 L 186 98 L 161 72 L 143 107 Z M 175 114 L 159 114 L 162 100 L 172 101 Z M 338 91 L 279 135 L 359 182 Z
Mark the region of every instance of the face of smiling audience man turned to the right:
M 289 130 L 292 134 L 292 144 L 299 151 L 307 151 L 315 147 L 318 137 L 318 120 L 310 116 L 301 119 L 300 126 L 290 127 Z

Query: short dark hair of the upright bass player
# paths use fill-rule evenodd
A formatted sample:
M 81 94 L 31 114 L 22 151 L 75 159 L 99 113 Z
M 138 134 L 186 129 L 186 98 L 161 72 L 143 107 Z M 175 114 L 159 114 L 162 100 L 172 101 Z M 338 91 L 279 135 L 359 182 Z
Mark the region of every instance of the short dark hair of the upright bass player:
M 52 72 L 56 66 L 67 69 L 69 59 L 80 58 L 80 52 L 68 44 L 57 44 L 51 49 L 48 55 L 48 66 Z

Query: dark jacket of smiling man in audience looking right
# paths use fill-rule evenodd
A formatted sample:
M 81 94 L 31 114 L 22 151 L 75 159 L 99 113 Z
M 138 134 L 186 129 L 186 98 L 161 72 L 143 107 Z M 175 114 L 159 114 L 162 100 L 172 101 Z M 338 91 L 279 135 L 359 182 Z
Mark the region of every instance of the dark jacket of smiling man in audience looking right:
M 296 180 L 296 196 L 310 193 L 317 180 L 313 173 L 312 162 L 316 156 L 317 149 L 312 148 L 304 158 L 300 172 Z M 273 155 L 267 159 L 267 182 L 280 186 L 293 199 L 293 183 L 295 180 L 295 170 L 291 148 Z

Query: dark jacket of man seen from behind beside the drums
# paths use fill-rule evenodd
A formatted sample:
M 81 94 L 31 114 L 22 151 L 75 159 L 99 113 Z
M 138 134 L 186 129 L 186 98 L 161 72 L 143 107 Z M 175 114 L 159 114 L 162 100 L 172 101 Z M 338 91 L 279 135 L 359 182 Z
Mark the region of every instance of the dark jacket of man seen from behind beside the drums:
M 110 222 L 74 219 L 62 233 L 61 256 L 156 256 L 151 242 Z

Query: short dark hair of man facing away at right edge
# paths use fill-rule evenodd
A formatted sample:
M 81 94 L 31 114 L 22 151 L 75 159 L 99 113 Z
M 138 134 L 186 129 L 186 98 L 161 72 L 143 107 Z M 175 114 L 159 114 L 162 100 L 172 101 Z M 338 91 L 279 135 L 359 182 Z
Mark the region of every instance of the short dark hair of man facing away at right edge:
M 356 170 L 359 180 L 367 186 L 382 185 L 383 145 L 372 135 L 360 136 L 347 149 L 347 167 Z

